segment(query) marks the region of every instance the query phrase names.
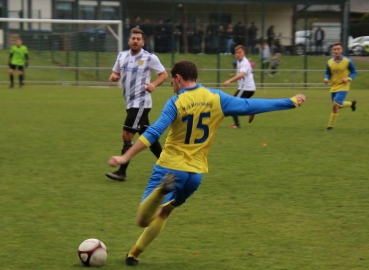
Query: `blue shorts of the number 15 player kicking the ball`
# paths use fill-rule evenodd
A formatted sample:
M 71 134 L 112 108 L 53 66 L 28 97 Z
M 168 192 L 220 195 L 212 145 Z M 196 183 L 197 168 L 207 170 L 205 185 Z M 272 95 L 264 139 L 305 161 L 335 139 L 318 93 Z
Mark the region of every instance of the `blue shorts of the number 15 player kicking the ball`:
M 163 168 L 157 164 L 154 166 L 154 171 L 151 174 L 150 180 L 147 183 L 146 190 L 142 196 L 141 202 L 146 199 L 151 192 L 161 184 L 166 173 L 172 173 L 176 176 L 176 189 L 168 193 L 162 204 L 170 203 L 173 206 L 182 205 L 187 198 L 197 190 L 202 180 L 202 173 L 189 173 L 184 171 L 176 171 Z M 175 201 L 174 201 L 175 200 Z

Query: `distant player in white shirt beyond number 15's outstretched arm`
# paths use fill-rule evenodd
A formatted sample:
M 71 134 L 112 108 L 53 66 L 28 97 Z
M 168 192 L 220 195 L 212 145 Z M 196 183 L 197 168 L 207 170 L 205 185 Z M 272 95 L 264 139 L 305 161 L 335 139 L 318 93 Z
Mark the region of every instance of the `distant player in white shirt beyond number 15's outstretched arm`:
M 237 75 L 225 81 L 223 85 L 228 86 L 231 82 L 238 81 L 238 90 L 234 96 L 239 98 L 250 98 L 254 95 L 256 86 L 254 74 L 252 73 L 252 66 L 245 56 L 246 48 L 242 45 L 238 45 L 234 48 L 234 52 L 237 59 Z M 249 123 L 254 120 L 254 116 L 255 115 L 249 115 Z M 230 126 L 230 128 L 240 128 L 237 115 L 233 115 L 233 120 L 234 124 Z

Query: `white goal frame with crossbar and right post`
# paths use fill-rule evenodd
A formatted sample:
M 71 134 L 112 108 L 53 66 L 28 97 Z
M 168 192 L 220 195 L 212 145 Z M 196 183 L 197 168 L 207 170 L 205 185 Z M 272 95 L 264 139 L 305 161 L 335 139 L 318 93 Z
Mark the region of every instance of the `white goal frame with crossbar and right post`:
M 22 19 L 22 18 L 0 18 L 0 22 L 8 23 L 52 23 L 52 24 L 94 24 L 107 25 L 108 31 L 118 41 L 118 53 L 123 49 L 123 24 L 119 20 L 61 20 L 61 19 Z M 109 25 L 117 25 L 118 33 L 109 27 Z

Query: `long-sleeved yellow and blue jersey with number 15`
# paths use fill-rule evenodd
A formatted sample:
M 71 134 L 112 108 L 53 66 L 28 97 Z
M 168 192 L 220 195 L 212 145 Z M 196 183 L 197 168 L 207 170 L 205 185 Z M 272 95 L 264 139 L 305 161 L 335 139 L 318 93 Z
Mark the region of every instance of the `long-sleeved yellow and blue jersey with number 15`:
M 159 119 L 139 139 L 150 146 L 169 127 L 157 164 L 172 170 L 206 173 L 207 155 L 217 127 L 225 116 L 286 110 L 296 105 L 294 98 L 237 98 L 197 84 L 193 88 L 181 89 L 178 95 L 169 99 Z

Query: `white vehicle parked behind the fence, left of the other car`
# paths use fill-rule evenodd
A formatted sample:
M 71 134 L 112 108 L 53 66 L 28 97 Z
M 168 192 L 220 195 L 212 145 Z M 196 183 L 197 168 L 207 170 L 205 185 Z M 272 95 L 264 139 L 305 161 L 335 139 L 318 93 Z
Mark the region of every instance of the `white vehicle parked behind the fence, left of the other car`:
M 324 40 L 322 46 L 323 54 L 330 55 L 333 44 L 334 44 L 333 41 Z M 316 48 L 315 48 L 314 32 L 312 30 L 297 31 L 295 33 L 295 45 L 297 55 L 304 55 L 305 48 L 307 54 L 315 54 Z

